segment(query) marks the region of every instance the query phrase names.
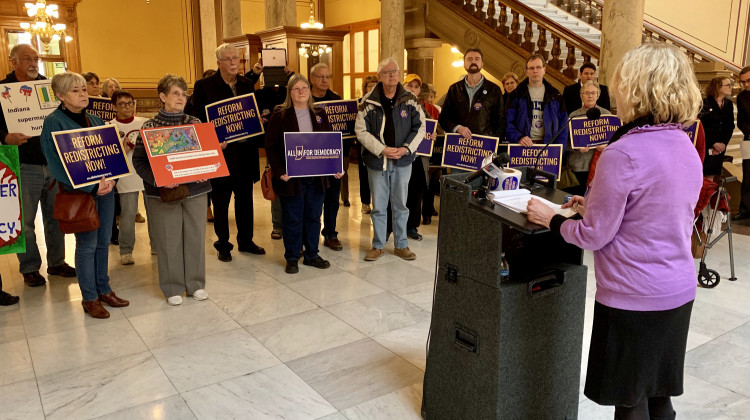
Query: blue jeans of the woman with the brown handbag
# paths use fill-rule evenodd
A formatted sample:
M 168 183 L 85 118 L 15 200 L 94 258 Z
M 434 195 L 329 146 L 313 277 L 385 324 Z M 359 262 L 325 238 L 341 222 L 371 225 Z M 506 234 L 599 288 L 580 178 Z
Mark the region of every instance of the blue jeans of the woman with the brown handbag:
M 78 286 L 85 301 L 96 300 L 99 295 L 112 291 L 109 288 L 107 258 L 112 236 L 112 223 L 109 221 L 115 217 L 115 194 L 97 195 L 94 201 L 101 221 L 99 229 L 75 234 Z

